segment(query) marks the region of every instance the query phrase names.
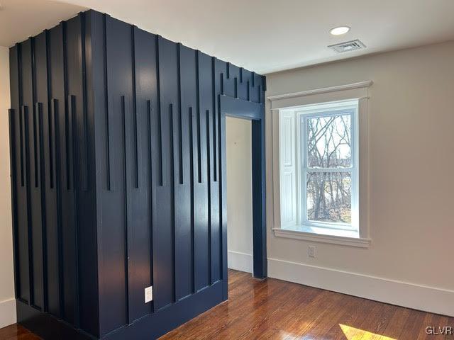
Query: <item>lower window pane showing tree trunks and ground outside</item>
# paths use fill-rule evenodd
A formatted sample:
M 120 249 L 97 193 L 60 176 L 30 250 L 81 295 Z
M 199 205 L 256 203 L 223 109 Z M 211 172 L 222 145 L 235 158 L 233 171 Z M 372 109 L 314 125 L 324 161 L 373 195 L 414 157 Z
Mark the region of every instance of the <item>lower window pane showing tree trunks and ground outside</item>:
M 307 172 L 307 218 L 313 222 L 352 221 L 350 172 Z

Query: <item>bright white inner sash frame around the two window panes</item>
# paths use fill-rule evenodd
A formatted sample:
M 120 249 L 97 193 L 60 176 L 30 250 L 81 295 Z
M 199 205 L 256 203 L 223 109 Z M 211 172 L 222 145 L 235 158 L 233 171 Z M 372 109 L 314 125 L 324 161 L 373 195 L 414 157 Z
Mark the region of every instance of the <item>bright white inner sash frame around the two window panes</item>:
M 352 232 L 358 232 L 359 234 L 359 212 L 358 212 L 358 193 L 359 193 L 359 183 L 358 183 L 358 100 L 353 101 L 337 101 L 329 102 L 323 104 L 312 104 L 308 106 L 302 106 L 297 108 L 296 111 L 296 144 L 297 144 L 297 164 L 299 168 L 297 169 L 297 183 L 299 183 L 299 195 L 297 195 L 299 206 L 298 220 L 299 225 L 308 226 L 308 227 L 319 227 L 326 229 L 339 229 Z M 319 118 L 319 117 L 331 117 L 336 115 L 350 115 L 350 139 L 352 145 L 350 145 L 351 150 L 351 163 L 348 168 L 311 168 L 308 166 L 308 153 L 307 153 L 307 120 L 310 118 Z M 350 172 L 351 178 L 351 218 L 352 222 L 342 223 L 342 222 L 317 222 L 309 220 L 307 213 L 307 173 L 308 172 Z M 284 229 L 284 228 L 283 228 Z

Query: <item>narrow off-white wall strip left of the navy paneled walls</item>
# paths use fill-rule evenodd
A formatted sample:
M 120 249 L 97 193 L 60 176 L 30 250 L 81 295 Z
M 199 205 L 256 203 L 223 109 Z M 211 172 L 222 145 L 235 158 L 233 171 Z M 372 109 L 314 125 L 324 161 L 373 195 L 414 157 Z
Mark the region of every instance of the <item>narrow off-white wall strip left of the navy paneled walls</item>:
M 0 47 L 0 328 L 16 322 L 9 168 L 9 49 Z

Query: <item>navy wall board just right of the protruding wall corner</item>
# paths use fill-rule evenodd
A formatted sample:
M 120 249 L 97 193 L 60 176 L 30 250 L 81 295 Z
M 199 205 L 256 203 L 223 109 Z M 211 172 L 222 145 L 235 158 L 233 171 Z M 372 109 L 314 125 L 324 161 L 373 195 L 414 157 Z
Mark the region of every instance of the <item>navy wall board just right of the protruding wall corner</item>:
M 103 236 L 99 249 L 102 261 L 99 284 L 106 287 L 101 300 L 106 312 L 101 313 L 100 323 L 106 329 L 117 329 L 129 323 L 126 148 L 133 115 L 133 54 L 130 26 L 110 16 L 106 16 L 104 26 L 107 135 L 104 157 L 109 184 L 101 193 Z

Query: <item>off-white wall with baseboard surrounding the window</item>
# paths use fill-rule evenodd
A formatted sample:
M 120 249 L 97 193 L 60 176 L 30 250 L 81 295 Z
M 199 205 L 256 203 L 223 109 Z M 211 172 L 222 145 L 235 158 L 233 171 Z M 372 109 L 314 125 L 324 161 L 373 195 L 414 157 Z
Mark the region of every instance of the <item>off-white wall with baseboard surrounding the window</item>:
M 267 75 L 267 96 L 374 81 L 369 249 L 275 237 L 267 103 L 270 276 L 454 315 L 453 60 L 446 42 Z

